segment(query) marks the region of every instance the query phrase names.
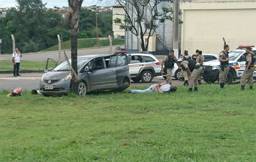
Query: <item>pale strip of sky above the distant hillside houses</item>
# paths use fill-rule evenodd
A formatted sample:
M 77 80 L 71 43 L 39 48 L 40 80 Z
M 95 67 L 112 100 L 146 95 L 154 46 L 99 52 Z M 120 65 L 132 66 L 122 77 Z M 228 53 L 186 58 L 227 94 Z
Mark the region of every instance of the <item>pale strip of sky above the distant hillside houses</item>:
M 43 3 L 46 3 L 46 7 L 53 8 L 54 6 L 57 7 L 68 7 L 68 0 L 42 0 Z M 97 0 L 83 0 L 82 7 L 84 6 L 92 6 L 95 5 Z M 15 0 L 0 0 L 0 8 L 7 8 L 7 7 L 16 7 L 17 3 Z M 105 4 L 106 5 L 106 4 Z M 105 6 L 104 3 L 98 2 L 97 6 Z

